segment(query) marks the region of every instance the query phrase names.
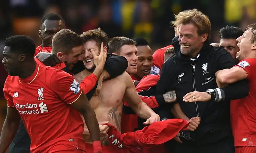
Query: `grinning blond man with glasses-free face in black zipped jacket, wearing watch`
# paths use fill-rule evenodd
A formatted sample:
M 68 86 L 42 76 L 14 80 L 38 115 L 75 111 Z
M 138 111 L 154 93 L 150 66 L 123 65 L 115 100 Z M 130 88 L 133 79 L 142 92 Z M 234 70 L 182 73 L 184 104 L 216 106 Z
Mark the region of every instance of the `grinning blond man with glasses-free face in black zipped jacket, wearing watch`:
M 179 26 L 179 37 L 172 42 L 175 56 L 164 63 L 156 89 L 157 94 L 176 91 L 177 102 L 172 105 L 166 104 L 163 97 L 157 98 L 161 111 L 166 115 L 172 111 L 176 118 L 190 121 L 190 131 L 182 132 L 183 143 L 177 145 L 175 153 L 234 153 L 229 100 L 247 96 L 248 84 L 242 80 L 218 88 L 215 72 L 233 67 L 234 59 L 224 48 L 209 45 L 211 25 L 202 12 L 187 10 L 175 18 L 173 24 Z M 200 91 L 196 96 L 210 101 L 186 103 L 197 98 L 186 95 L 193 91 Z

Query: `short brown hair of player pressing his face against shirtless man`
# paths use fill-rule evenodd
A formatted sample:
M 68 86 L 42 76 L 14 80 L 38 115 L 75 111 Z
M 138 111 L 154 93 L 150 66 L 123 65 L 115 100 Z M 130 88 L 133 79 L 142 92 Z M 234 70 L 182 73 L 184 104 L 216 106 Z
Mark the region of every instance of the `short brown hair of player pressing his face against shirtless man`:
M 83 40 L 79 35 L 69 29 L 61 29 L 52 39 L 52 52 L 62 52 L 66 55 L 72 52 L 73 47 L 83 45 Z

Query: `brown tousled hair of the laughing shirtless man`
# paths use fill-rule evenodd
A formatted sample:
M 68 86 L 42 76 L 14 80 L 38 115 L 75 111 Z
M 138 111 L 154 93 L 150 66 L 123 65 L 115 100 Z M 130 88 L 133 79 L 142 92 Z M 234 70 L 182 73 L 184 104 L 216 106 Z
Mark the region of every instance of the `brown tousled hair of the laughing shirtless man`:
M 103 46 L 108 45 L 108 35 L 100 28 L 83 32 L 80 37 L 83 39 L 84 43 L 91 40 L 95 41 L 99 48 L 102 42 Z

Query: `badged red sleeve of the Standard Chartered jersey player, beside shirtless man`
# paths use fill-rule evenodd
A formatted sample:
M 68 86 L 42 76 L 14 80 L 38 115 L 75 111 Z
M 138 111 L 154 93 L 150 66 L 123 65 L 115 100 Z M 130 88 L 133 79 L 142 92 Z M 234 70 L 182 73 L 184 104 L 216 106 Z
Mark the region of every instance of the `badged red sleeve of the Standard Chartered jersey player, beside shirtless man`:
M 81 86 L 70 74 L 55 69 L 50 78 L 51 89 L 67 104 L 74 103 L 83 93 Z

